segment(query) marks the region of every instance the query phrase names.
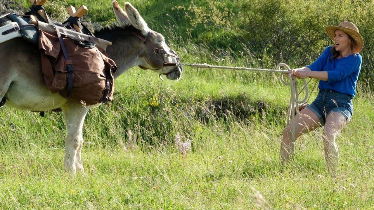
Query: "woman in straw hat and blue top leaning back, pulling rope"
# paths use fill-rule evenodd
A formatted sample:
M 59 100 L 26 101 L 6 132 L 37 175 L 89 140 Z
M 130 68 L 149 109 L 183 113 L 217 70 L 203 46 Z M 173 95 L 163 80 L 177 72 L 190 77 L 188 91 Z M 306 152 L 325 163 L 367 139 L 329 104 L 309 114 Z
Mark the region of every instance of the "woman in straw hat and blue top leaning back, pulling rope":
M 327 47 L 312 65 L 294 69 L 291 75 L 319 81 L 317 98 L 300 112 L 299 124 L 294 134 L 291 121 L 283 130 L 281 165 L 294 153 L 294 140 L 299 136 L 324 126 L 323 142 L 328 170 L 335 174 L 338 147 L 335 137 L 347 125 L 353 113 L 352 99 L 356 94 L 356 81 L 361 70 L 364 41 L 352 22 L 341 22 L 337 27 L 326 27 L 334 46 Z

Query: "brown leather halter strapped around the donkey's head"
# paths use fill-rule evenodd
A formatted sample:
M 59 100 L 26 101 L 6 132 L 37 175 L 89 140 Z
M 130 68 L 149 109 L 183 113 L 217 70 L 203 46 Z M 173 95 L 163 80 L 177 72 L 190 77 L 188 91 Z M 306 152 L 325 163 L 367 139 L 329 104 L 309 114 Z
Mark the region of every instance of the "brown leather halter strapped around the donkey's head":
M 150 48 L 154 51 L 154 53 L 157 55 L 157 57 L 158 57 L 158 58 L 160 59 L 160 61 L 163 63 L 163 66 L 164 66 L 164 67 L 178 67 L 178 66 L 181 66 L 181 63 L 180 63 L 179 58 L 178 58 L 178 55 L 177 55 L 177 53 L 176 53 L 174 50 L 170 49 L 171 53 L 170 53 L 170 52 L 167 52 L 167 51 L 164 50 L 164 49 L 159 49 L 159 48 L 155 47 L 155 46 L 154 46 L 154 45 L 149 41 L 150 38 L 151 38 L 152 31 L 149 31 L 149 32 L 147 33 L 147 36 L 146 36 L 146 37 L 144 37 L 144 35 L 141 34 L 139 31 L 135 31 L 135 30 L 133 30 L 133 31 L 131 31 L 131 33 L 134 34 L 134 35 L 136 35 L 138 38 L 140 38 L 140 40 L 141 40 L 144 44 L 147 44 L 147 46 L 150 47 Z M 169 55 L 169 56 L 174 57 L 175 59 L 177 59 L 177 62 L 175 62 L 175 63 L 166 63 L 165 60 L 162 58 L 161 53 L 162 53 L 162 54 L 166 54 L 166 55 Z M 170 72 L 168 72 L 168 73 L 165 73 L 165 74 L 163 74 L 163 75 L 171 74 L 172 72 L 177 71 L 177 70 L 178 70 L 178 68 L 175 68 L 175 70 L 172 70 L 172 71 L 170 71 Z M 162 75 L 162 74 L 160 74 L 160 75 Z M 160 77 L 160 78 L 161 78 L 161 77 Z M 161 78 L 161 79 L 162 79 L 162 78 Z

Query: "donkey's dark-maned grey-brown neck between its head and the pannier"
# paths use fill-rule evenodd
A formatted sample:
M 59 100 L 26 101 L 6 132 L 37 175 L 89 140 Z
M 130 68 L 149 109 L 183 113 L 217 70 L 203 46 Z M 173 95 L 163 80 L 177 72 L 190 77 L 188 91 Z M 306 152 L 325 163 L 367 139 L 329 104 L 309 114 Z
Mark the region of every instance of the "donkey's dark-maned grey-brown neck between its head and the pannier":
M 117 71 L 114 78 L 123 74 L 129 68 L 139 65 L 141 60 L 139 54 L 141 52 L 140 40 L 131 34 L 131 28 L 105 28 L 95 33 L 95 36 L 113 43 L 108 46 L 106 52 L 108 57 L 113 59 L 117 65 Z

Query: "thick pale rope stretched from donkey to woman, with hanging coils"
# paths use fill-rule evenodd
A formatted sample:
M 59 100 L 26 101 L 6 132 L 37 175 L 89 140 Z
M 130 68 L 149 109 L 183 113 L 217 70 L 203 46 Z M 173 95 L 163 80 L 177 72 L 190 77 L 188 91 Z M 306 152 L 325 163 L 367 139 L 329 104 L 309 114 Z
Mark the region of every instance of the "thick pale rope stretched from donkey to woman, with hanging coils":
M 309 95 L 309 89 L 308 89 L 308 83 L 305 79 L 303 79 L 304 88 L 305 89 L 305 97 L 302 100 L 299 100 L 298 98 L 298 88 L 297 88 L 297 80 L 294 78 L 292 79 L 292 76 L 290 74 L 291 68 L 287 64 L 281 63 L 278 64 L 277 69 L 262 69 L 262 68 L 246 68 L 246 67 L 225 67 L 225 66 L 215 66 L 215 65 L 209 65 L 209 64 L 182 64 L 182 66 L 190 66 L 192 68 L 218 68 L 218 69 L 230 69 L 230 70 L 244 70 L 244 71 L 260 71 L 260 72 L 275 72 L 275 73 L 281 73 L 279 75 L 279 79 L 281 82 L 285 85 L 290 86 L 291 88 L 291 96 L 289 99 L 289 105 L 288 105 L 288 111 L 287 111 L 287 125 L 290 123 L 290 121 L 294 120 L 296 117 L 297 122 L 292 124 L 292 140 L 295 142 L 295 132 L 297 129 L 297 126 L 300 121 L 300 113 L 299 113 L 299 104 L 303 104 L 307 101 L 308 95 Z M 286 70 L 281 70 L 281 68 L 284 67 Z M 288 74 L 288 78 L 290 82 L 286 82 L 283 79 L 283 75 Z M 296 110 L 296 115 L 294 115 L 293 110 Z

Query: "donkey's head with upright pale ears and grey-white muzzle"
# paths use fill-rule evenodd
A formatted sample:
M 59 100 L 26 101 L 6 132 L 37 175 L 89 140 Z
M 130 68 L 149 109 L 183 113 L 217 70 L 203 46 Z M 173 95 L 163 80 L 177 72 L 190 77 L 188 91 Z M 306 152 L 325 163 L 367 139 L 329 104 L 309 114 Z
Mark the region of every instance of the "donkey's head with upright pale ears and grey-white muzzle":
M 137 65 L 142 69 L 153 70 L 160 76 L 164 74 L 169 80 L 179 80 L 182 66 L 177 53 L 166 45 L 163 35 L 148 28 L 138 10 L 130 3 L 125 3 L 124 11 L 114 0 L 113 10 L 117 21 L 122 25 L 131 24 L 135 28 L 132 34 L 142 42 L 143 50 L 139 54 Z

